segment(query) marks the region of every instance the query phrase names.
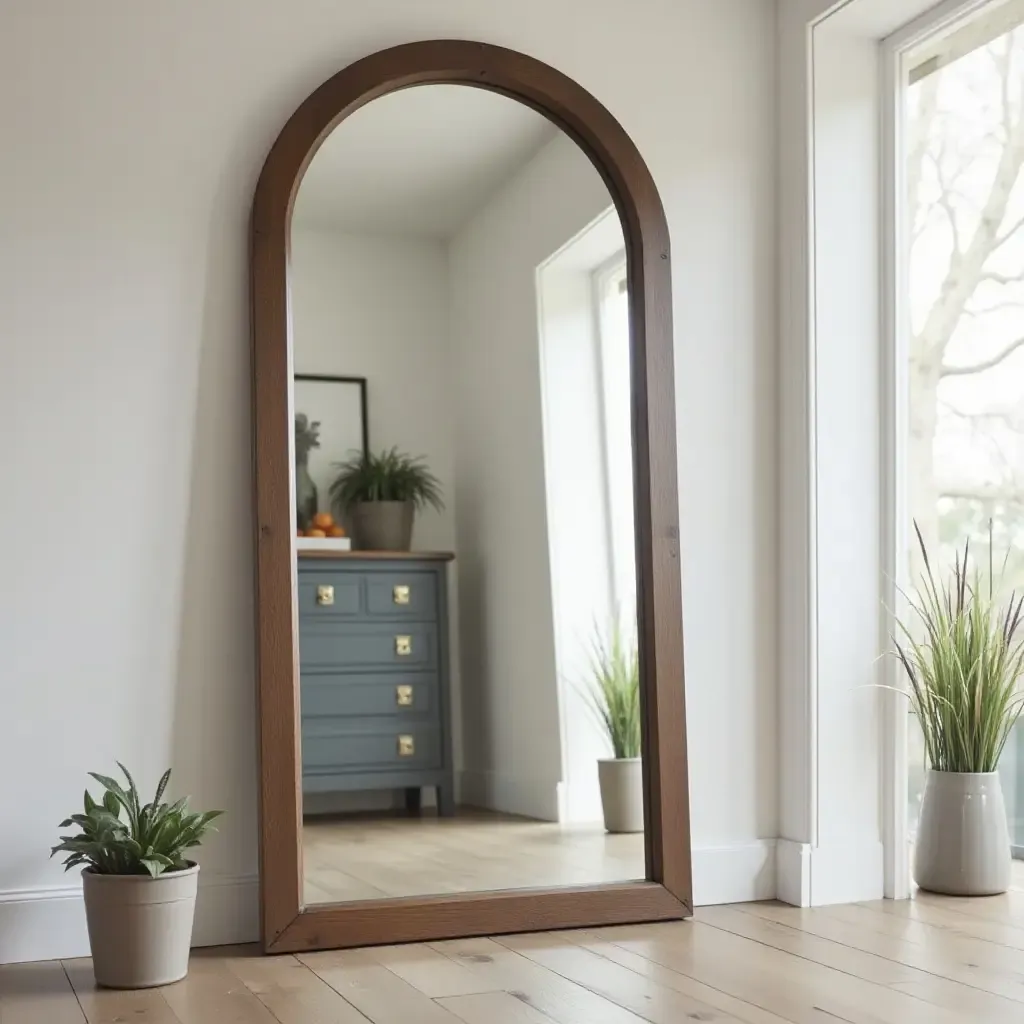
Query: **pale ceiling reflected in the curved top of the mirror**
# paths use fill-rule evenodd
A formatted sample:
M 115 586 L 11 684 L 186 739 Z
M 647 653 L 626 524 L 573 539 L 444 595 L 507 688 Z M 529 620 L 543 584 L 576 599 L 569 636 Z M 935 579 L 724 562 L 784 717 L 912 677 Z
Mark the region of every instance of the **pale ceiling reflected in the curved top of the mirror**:
M 449 238 L 558 129 L 507 96 L 423 85 L 346 118 L 313 157 L 294 220 Z

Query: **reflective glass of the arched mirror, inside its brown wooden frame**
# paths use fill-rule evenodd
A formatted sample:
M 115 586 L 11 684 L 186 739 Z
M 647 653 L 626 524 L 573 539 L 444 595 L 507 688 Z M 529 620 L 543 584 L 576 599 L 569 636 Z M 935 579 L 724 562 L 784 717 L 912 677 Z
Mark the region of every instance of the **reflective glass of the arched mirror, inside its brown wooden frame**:
M 291 246 L 305 902 L 644 878 L 607 188 L 418 86 L 328 137 Z

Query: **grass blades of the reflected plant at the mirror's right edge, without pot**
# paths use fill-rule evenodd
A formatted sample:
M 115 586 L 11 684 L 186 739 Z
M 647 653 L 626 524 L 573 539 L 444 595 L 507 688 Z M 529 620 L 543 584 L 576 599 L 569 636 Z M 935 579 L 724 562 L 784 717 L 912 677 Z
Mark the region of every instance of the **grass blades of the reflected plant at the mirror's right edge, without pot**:
M 617 623 L 607 638 L 595 631 L 588 692 L 614 757 L 640 757 L 640 662 Z

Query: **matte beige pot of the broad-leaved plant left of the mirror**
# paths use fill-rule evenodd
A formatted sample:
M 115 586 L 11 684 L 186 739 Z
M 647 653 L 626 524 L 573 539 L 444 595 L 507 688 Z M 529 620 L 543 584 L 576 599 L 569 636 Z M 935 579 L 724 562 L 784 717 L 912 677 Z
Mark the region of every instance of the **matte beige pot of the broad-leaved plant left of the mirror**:
M 199 864 L 148 874 L 82 872 L 96 984 L 153 988 L 188 973 Z

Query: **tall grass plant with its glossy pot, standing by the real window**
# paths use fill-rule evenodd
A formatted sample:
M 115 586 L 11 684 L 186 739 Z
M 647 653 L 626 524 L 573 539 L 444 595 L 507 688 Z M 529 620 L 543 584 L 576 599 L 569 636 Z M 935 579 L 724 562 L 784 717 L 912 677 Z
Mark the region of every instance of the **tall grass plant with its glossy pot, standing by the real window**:
M 914 881 L 953 896 L 1001 893 L 1010 887 L 1011 851 L 997 768 L 1024 699 L 1024 597 L 1011 594 L 1004 603 L 996 596 L 991 528 L 987 581 L 970 567 L 965 545 L 941 584 L 914 529 L 924 569 L 895 641 L 928 762 Z

